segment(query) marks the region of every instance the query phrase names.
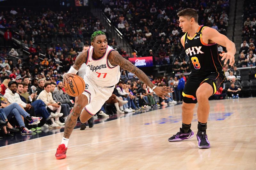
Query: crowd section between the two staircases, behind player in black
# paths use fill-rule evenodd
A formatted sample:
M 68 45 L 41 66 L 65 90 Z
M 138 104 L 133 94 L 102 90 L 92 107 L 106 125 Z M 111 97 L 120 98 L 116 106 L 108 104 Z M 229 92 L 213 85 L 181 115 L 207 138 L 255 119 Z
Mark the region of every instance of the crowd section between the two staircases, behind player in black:
M 226 35 L 228 26 L 228 1 L 119 1 L 110 0 L 101 7 L 111 23 L 123 33 L 138 56 L 153 56 L 156 65 L 186 60 L 180 37 L 183 35 L 177 12 L 195 8 L 200 25 L 218 30 Z M 222 49 L 223 51 L 223 49 Z

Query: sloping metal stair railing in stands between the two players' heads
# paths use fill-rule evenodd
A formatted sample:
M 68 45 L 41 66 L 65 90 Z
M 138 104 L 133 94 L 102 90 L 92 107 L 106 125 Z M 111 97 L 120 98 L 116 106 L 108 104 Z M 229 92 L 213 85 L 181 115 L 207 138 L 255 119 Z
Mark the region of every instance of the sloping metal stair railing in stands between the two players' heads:
M 121 42 L 122 40 L 123 47 L 129 50 L 130 57 L 133 57 L 132 47 L 130 46 L 130 43 L 126 41 L 126 39 L 124 38 L 124 35 L 116 28 L 116 26 L 114 26 L 114 24 L 110 21 L 110 19 L 108 19 L 108 17 L 104 14 L 102 10 L 98 8 L 95 8 L 94 10 L 97 11 L 97 14 L 100 17 L 100 19 L 102 19 L 105 22 L 105 25 L 107 25 L 108 28 L 106 29 L 109 30 L 109 33 L 111 33 L 111 36 L 116 37 L 117 40 L 119 40 L 119 42 Z

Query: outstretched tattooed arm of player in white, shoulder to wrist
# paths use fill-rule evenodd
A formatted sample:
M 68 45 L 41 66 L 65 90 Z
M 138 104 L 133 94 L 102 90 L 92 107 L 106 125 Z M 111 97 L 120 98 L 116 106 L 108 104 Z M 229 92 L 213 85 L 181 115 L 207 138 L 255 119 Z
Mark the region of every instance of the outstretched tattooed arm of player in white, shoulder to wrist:
M 124 57 L 122 57 L 117 51 L 112 51 L 108 56 L 108 60 L 111 65 L 119 65 L 125 70 L 135 74 L 140 79 L 140 81 L 144 82 L 151 89 L 155 86 L 143 71 L 134 66 L 130 61 L 124 59 Z

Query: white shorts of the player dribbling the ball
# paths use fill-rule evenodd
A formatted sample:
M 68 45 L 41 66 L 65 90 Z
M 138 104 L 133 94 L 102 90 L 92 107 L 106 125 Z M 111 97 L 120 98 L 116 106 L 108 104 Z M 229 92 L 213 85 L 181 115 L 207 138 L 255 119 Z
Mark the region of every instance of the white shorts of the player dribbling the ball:
M 84 76 L 84 82 L 85 89 L 82 94 L 88 98 L 88 104 L 84 109 L 89 114 L 95 115 L 112 95 L 115 86 L 110 88 L 97 86 L 92 79 L 86 76 Z

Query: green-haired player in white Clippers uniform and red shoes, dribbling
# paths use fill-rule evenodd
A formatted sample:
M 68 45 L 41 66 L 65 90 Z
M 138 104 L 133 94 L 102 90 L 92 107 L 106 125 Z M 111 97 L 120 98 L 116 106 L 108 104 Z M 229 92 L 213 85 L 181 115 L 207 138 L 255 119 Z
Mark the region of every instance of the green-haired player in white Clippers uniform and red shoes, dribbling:
M 170 97 L 168 93 L 173 92 L 170 87 L 155 86 L 143 71 L 108 46 L 107 37 L 101 31 L 92 34 L 90 48 L 76 57 L 75 64 L 68 73 L 63 74 L 63 82 L 68 83 L 69 77 L 76 75 L 83 63 L 87 65 L 86 76 L 84 76 L 86 86 L 83 94 L 76 97 L 73 111 L 68 115 L 64 137 L 55 154 L 56 159 L 66 158 L 68 140 L 76 126 L 77 117 L 80 116 L 81 123 L 85 123 L 94 115 L 93 113 L 100 110 L 112 95 L 115 85 L 120 79 L 120 67 L 134 73 L 140 81 L 147 84 L 156 95 L 162 98 Z

